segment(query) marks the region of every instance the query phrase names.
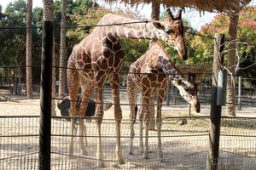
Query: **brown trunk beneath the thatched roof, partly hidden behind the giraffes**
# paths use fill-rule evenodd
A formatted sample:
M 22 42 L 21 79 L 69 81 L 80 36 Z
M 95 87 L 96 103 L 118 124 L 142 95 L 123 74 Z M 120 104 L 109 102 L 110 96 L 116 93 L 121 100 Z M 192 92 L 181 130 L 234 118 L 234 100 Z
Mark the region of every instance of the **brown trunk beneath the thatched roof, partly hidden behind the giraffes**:
M 160 15 L 160 1 L 159 0 L 155 0 L 155 1 L 152 1 L 152 13 L 151 13 L 151 19 L 152 20 L 159 20 L 159 15 Z M 155 40 L 150 40 L 149 42 L 149 46 L 154 42 Z M 153 106 L 154 107 L 154 106 Z M 152 108 L 151 110 L 152 111 Z M 149 119 L 152 120 L 149 122 L 149 125 L 148 125 L 148 129 L 150 130 L 153 130 L 154 129 L 154 126 L 155 126 L 155 121 L 154 118 L 154 114 L 149 114 L 150 117 Z

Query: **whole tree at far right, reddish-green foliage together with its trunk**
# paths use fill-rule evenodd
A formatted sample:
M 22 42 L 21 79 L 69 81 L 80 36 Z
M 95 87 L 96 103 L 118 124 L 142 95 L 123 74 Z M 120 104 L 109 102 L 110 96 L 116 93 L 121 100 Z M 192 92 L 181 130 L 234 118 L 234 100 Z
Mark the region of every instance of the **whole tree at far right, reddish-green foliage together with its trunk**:
M 253 56 L 255 46 L 249 45 L 249 50 L 247 50 L 247 43 L 255 44 L 256 42 L 256 20 L 253 13 L 254 15 L 256 14 L 255 7 L 245 8 L 245 10 L 241 11 L 239 14 L 239 20 L 238 15 L 236 14 L 231 14 L 230 17 L 224 14 L 218 14 L 210 24 L 203 26 L 199 32 L 200 34 L 211 37 L 213 37 L 213 33 L 216 32 L 228 35 L 229 41 L 227 42 L 226 53 L 229 55 L 228 58 L 225 59 L 225 62 L 229 72 L 232 73 L 232 75 L 235 77 L 237 76 L 236 74 L 240 74 L 245 77 L 252 77 L 255 75 L 255 65 L 248 67 L 252 64 L 252 62 L 255 62 L 255 55 Z M 236 28 L 237 22 L 238 27 Z M 202 63 L 212 61 L 212 46 L 212 39 L 208 39 L 206 37 L 195 37 L 195 39 L 192 41 L 192 47 L 195 48 L 195 56 L 197 58 L 201 57 Z M 244 57 L 244 59 L 240 59 L 240 61 L 242 61 L 242 63 L 239 64 L 241 68 L 250 68 L 250 71 L 247 71 L 247 69 L 237 69 L 237 72 L 235 70 L 239 56 Z M 236 116 L 234 89 L 235 77 L 228 78 L 229 85 L 227 91 L 227 114 L 231 116 Z

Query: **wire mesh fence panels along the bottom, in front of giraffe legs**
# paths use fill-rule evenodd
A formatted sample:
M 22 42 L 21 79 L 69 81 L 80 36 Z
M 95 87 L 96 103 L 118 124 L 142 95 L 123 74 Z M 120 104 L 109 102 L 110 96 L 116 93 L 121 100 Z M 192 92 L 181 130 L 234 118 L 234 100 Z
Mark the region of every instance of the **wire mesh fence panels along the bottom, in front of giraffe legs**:
M 69 154 L 71 122 L 52 118 L 51 169 L 96 169 L 96 122 L 86 118 L 87 155 L 79 148 L 75 134 L 73 156 Z M 0 117 L 0 169 L 38 169 L 39 117 Z M 115 122 L 102 122 L 102 169 L 205 169 L 209 140 L 209 117 L 164 117 L 162 120 L 163 161 L 157 158 L 157 132 L 149 131 L 149 159 L 139 147 L 139 123 L 135 124 L 134 153 L 129 154 L 130 120 L 121 124 L 121 145 L 125 164 L 115 161 Z M 256 168 L 256 119 L 223 117 L 219 142 L 219 169 Z M 77 128 L 79 129 L 79 128 Z M 144 138 L 144 136 L 143 136 Z

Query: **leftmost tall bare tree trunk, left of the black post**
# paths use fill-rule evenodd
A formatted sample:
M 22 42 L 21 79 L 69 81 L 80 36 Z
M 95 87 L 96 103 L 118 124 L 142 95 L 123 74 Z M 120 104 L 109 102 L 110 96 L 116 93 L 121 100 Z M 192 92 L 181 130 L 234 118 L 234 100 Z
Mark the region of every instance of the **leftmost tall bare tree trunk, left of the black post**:
M 32 0 L 26 4 L 26 97 L 32 99 Z

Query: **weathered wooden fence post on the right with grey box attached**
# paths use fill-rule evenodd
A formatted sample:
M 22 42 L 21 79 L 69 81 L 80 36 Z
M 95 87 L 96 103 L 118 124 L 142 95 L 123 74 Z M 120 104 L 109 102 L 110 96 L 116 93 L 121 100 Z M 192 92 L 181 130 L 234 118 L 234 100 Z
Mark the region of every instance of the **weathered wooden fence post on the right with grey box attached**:
M 212 105 L 209 127 L 209 148 L 207 170 L 218 169 L 218 149 L 220 134 L 221 105 L 217 105 L 218 69 L 224 63 L 224 34 L 214 36 L 214 54 L 212 65 Z

